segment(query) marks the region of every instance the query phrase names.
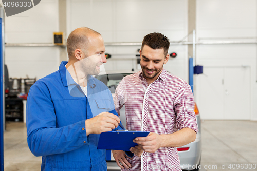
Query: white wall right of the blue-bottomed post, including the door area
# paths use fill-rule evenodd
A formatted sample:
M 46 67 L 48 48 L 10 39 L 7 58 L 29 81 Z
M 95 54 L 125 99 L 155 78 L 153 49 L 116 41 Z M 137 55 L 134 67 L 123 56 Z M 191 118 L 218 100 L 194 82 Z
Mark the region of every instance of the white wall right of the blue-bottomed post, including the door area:
M 255 41 L 256 5 L 255 0 L 197 0 L 197 41 Z M 204 74 L 195 75 L 195 99 L 200 108 L 201 117 L 204 119 L 257 120 L 256 44 L 197 45 L 196 48 L 196 64 L 204 66 Z M 223 68 L 224 72 L 219 68 Z M 231 73 L 229 77 L 226 77 L 228 73 L 225 73 L 225 70 L 228 68 L 234 68 L 232 72 L 234 74 Z M 237 70 L 240 69 L 242 72 L 247 72 L 248 75 L 237 74 Z M 216 73 L 205 74 L 205 70 L 206 72 L 213 70 Z M 211 76 L 211 74 L 216 74 L 216 76 Z M 248 77 L 249 81 L 245 80 Z M 212 80 L 210 80 L 211 78 Z M 212 82 L 213 80 L 216 81 Z M 227 111 L 217 117 L 228 108 L 229 103 L 226 103 L 226 99 L 234 96 L 232 92 L 226 94 L 228 91 L 226 82 L 231 83 L 236 80 L 239 82 L 229 88 L 237 88 L 235 91 L 237 96 L 231 100 L 234 106 L 230 111 L 237 109 L 238 112 L 234 111 L 232 117 L 228 117 Z M 209 82 L 209 85 L 203 87 L 201 85 L 203 81 Z M 242 89 L 240 84 L 248 88 Z M 219 86 L 221 90 L 215 93 L 216 97 L 210 97 L 208 94 L 212 94 Z M 218 93 L 221 93 L 220 96 Z M 241 102 L 238 103 L 238 101 Z M 249 103 L 244 104 L 244 102 Z

